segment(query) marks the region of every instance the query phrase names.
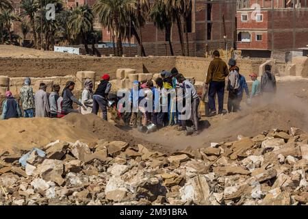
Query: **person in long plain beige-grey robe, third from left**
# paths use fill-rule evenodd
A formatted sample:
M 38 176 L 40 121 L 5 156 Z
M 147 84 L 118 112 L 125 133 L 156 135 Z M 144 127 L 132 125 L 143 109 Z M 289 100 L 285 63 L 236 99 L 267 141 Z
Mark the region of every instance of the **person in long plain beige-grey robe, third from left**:
M 34 96 L 36 105 L 36 117 L 49 117 L 50 108 L 46 88 L 47 86 L 45 83 L 40 83 L 40 88 Z

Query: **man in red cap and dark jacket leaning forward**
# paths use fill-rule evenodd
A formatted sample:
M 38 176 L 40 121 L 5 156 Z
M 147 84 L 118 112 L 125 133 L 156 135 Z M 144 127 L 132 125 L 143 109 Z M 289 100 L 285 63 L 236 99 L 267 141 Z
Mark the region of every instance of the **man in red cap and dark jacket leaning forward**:
M 99 112 L 99 107 L 101 107 L 103 119 L 107 120 L 107 101 L 112 84 L 109 82 L 110 76 L 107 74 L 103 75 L 101 79 L 101 83 L 99 83 L 93 95 L 92 113 L 97 114 Z

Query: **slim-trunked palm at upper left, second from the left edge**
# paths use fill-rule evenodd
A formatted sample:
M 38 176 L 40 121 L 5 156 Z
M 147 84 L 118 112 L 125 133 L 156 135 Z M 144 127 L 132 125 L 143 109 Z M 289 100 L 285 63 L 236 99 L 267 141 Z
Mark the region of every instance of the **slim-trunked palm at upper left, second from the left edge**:
M 32 28 L 32 34 L 34 38 L 34 47 L 38 48 L 38 40 L 36 36 L 36 24 L 35 24 L 35 16 L 36 12 L 38 12 L 38 2 L 36 0 L 22 0 L 21 1 L 21 9 L 23 12 L 21 13 L 21 16 L 26 17 L 29 16 L 31 28 Z

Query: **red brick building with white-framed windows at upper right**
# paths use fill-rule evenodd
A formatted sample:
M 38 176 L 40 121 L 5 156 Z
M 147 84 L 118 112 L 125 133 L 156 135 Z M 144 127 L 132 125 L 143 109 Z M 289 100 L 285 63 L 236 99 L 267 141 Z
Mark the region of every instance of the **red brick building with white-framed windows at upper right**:
M 307 7 L 307 0 L 238 1 L 237 49 L 251 57 L 275 57 L 305 47 Z

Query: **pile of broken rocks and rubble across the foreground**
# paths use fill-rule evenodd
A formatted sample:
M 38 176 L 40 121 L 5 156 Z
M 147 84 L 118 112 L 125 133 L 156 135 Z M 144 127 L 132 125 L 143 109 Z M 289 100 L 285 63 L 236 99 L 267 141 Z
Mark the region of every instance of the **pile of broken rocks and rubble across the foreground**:
M 308 133 L 273 129 L 166 155 L 57 140 L 0 155 L 1 205 L 307 205 Z

